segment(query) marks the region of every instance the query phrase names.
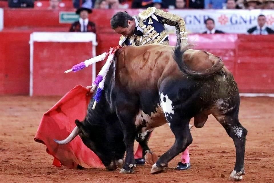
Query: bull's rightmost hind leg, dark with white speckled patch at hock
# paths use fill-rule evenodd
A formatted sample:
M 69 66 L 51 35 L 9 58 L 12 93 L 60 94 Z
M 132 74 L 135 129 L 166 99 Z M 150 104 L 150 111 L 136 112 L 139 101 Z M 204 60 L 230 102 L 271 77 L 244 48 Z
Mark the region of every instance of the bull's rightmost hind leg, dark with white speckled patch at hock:
M 245 175 L 244 158 L 247 130 L 240 124 L 238 112 L 239 109 L 229 115 L 213 114 L 213 116 L 215 116 L 215 118 L 221 123 L 223 128 L 225 128 L 229 137 L 233 139 L 236 148 L 236 163 L 234 170 L 230 174 L 230 179 L 234 181 L 242 180 L 242 175 Z

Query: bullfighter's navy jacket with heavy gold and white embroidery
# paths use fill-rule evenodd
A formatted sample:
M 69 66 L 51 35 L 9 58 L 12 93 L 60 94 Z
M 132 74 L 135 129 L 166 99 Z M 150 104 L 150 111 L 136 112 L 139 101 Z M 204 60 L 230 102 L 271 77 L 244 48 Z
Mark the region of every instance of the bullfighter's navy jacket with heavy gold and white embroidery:
M 177 44 L 187 43 L 187 32 L 185 21 L 178 15 L 151 7 L 139 13 L 134 17 L 136 27 L 131 37 L 120 37 L 119 45 L 140 46 L 146 44 L 164 44 L 169 45 L 168 34 L 164 24 L 176 28 Z M 137 26 L 138 24 L 138 26 Z

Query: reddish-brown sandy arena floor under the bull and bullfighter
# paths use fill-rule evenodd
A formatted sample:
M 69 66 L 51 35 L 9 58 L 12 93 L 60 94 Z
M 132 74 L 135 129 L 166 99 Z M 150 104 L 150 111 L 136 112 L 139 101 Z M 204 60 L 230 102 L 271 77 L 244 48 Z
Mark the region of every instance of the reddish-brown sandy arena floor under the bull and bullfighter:
M 151 165 L 137 166 L 134 174 L 119 170 L 71 170 L 52 165 L 53 157 L 33 138 L 43 113 L 60 97 L 0 96 L 0 182 L 231 182 L 235 147 L 223 127 L 210 116 L 205 126 L 192 131 L 192 168 L 176 171 L 177 156 L 165 172 L 150 175 Z M 241 98 L 241 124 L 248 130 L 245 171 L 241 182 L 274 182 L 274 98 Z M 193 122 L 192 122 L 193 124 Z M 154 130 L 149 142 L 158 155 L 174 142 L 168 125 Z

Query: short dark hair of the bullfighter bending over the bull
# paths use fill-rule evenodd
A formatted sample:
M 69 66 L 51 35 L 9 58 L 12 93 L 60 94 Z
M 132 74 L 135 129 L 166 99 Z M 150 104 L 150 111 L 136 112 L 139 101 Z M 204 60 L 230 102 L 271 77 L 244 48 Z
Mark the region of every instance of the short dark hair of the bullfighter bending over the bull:
M 127 12 L 117 12 L 113 15 L 110 20 L 110 25 L 112 29 L 117 27 L 126 28 L 128 27 L 128 20 L 133 20 L 134 18 L 130 16 Z

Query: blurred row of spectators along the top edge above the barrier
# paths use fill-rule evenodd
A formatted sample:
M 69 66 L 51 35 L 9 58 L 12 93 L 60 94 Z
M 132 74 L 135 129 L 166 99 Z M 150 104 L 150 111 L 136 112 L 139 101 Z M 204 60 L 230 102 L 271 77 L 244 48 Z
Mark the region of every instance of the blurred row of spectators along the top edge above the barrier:
M 44 0 L 4 0 L 9 7 L 39 7 Z M 46 0 L 45 0 L 46 1 Z M 49 0 L 49 9 L 65 7 L 67 0 Z M 70 1 L 71 3 L 71 1 Z M 274 9 L 274 0 L 72 0 L 73 7 L 90 9 Z

